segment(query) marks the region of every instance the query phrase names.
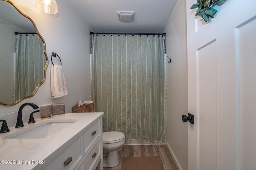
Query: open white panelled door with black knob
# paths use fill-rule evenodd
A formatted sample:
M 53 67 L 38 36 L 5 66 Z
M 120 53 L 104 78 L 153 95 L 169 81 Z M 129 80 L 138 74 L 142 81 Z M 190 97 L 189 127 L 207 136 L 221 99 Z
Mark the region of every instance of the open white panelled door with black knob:
M 210 23 L 187 0 L 189 170 L 256 169 L 256 1 L 227 0 Z

